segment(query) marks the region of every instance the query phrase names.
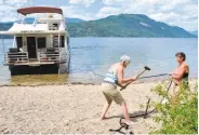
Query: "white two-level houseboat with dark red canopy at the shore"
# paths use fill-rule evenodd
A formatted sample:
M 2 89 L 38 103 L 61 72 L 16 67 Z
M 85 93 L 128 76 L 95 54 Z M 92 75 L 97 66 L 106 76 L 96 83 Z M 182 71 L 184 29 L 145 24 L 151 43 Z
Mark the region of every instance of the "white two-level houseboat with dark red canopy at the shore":
M 14 37 L 12 48 L 4 52 L 11 76 L 68 72 L 69 38 L 63 11 L 31 6 L 18 9 L 17 13 L 21 19 L 1 31 Z

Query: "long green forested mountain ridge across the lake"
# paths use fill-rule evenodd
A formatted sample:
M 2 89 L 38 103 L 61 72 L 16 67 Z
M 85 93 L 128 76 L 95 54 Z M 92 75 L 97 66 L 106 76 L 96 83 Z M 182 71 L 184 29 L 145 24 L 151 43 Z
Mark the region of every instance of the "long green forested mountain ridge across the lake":
M 156 22 L 142 14 L 111 15 L 89 22 L 66 18 L 66 22 L 70 37 L 197 38 L 183 28 Z M 0 30 L 8 30 L 12 25 L 0 23 Z

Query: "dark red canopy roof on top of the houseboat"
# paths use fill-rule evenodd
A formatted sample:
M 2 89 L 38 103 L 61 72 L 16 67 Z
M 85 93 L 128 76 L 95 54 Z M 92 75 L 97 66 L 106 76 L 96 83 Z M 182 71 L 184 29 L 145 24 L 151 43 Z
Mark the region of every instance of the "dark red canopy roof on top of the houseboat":
M 34 14 L 34 13 L 57 13 L 57 14 L 63 14 L 62 9 L 50 8 L 50 6 L 23 8 L 23 9 L 18 9 L 17 12 L 23 14 L 23 15 Z

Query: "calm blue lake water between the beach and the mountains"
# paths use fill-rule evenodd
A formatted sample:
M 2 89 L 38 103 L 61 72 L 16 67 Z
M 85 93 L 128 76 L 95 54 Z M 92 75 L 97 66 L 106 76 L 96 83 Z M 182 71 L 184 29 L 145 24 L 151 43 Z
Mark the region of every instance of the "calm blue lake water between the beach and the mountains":
M 119 62 L 121 55 L 131 57 L 125 76 L 131 77 L 151 68 L 144 76 L 171 72 L 176 66 L 175 53 L 185 52 L 190 67 L 190 78 L 198 77 L 198 39 L 170 38 L 70 38 L 70 73 L 62 76 L 21 76 L 11 78 L 9 67 L 2 66 L 3 46 L 0 42 L 0 83 L 26 82 L 101 82 L 108 67 Z M 4 40 L 5 51 L 12 40 Z M 95 75 L 95 73 L 97 75 Z M 157 78 L 156 78 L 157 79 Z

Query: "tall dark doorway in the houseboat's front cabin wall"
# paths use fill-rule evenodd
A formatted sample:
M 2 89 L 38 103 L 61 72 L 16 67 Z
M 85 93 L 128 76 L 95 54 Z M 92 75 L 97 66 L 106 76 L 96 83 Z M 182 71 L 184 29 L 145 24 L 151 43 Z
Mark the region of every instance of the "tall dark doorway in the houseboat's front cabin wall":
M 29 58 L 37 58 L 36 37 L 27 37 L 27 48 Z

